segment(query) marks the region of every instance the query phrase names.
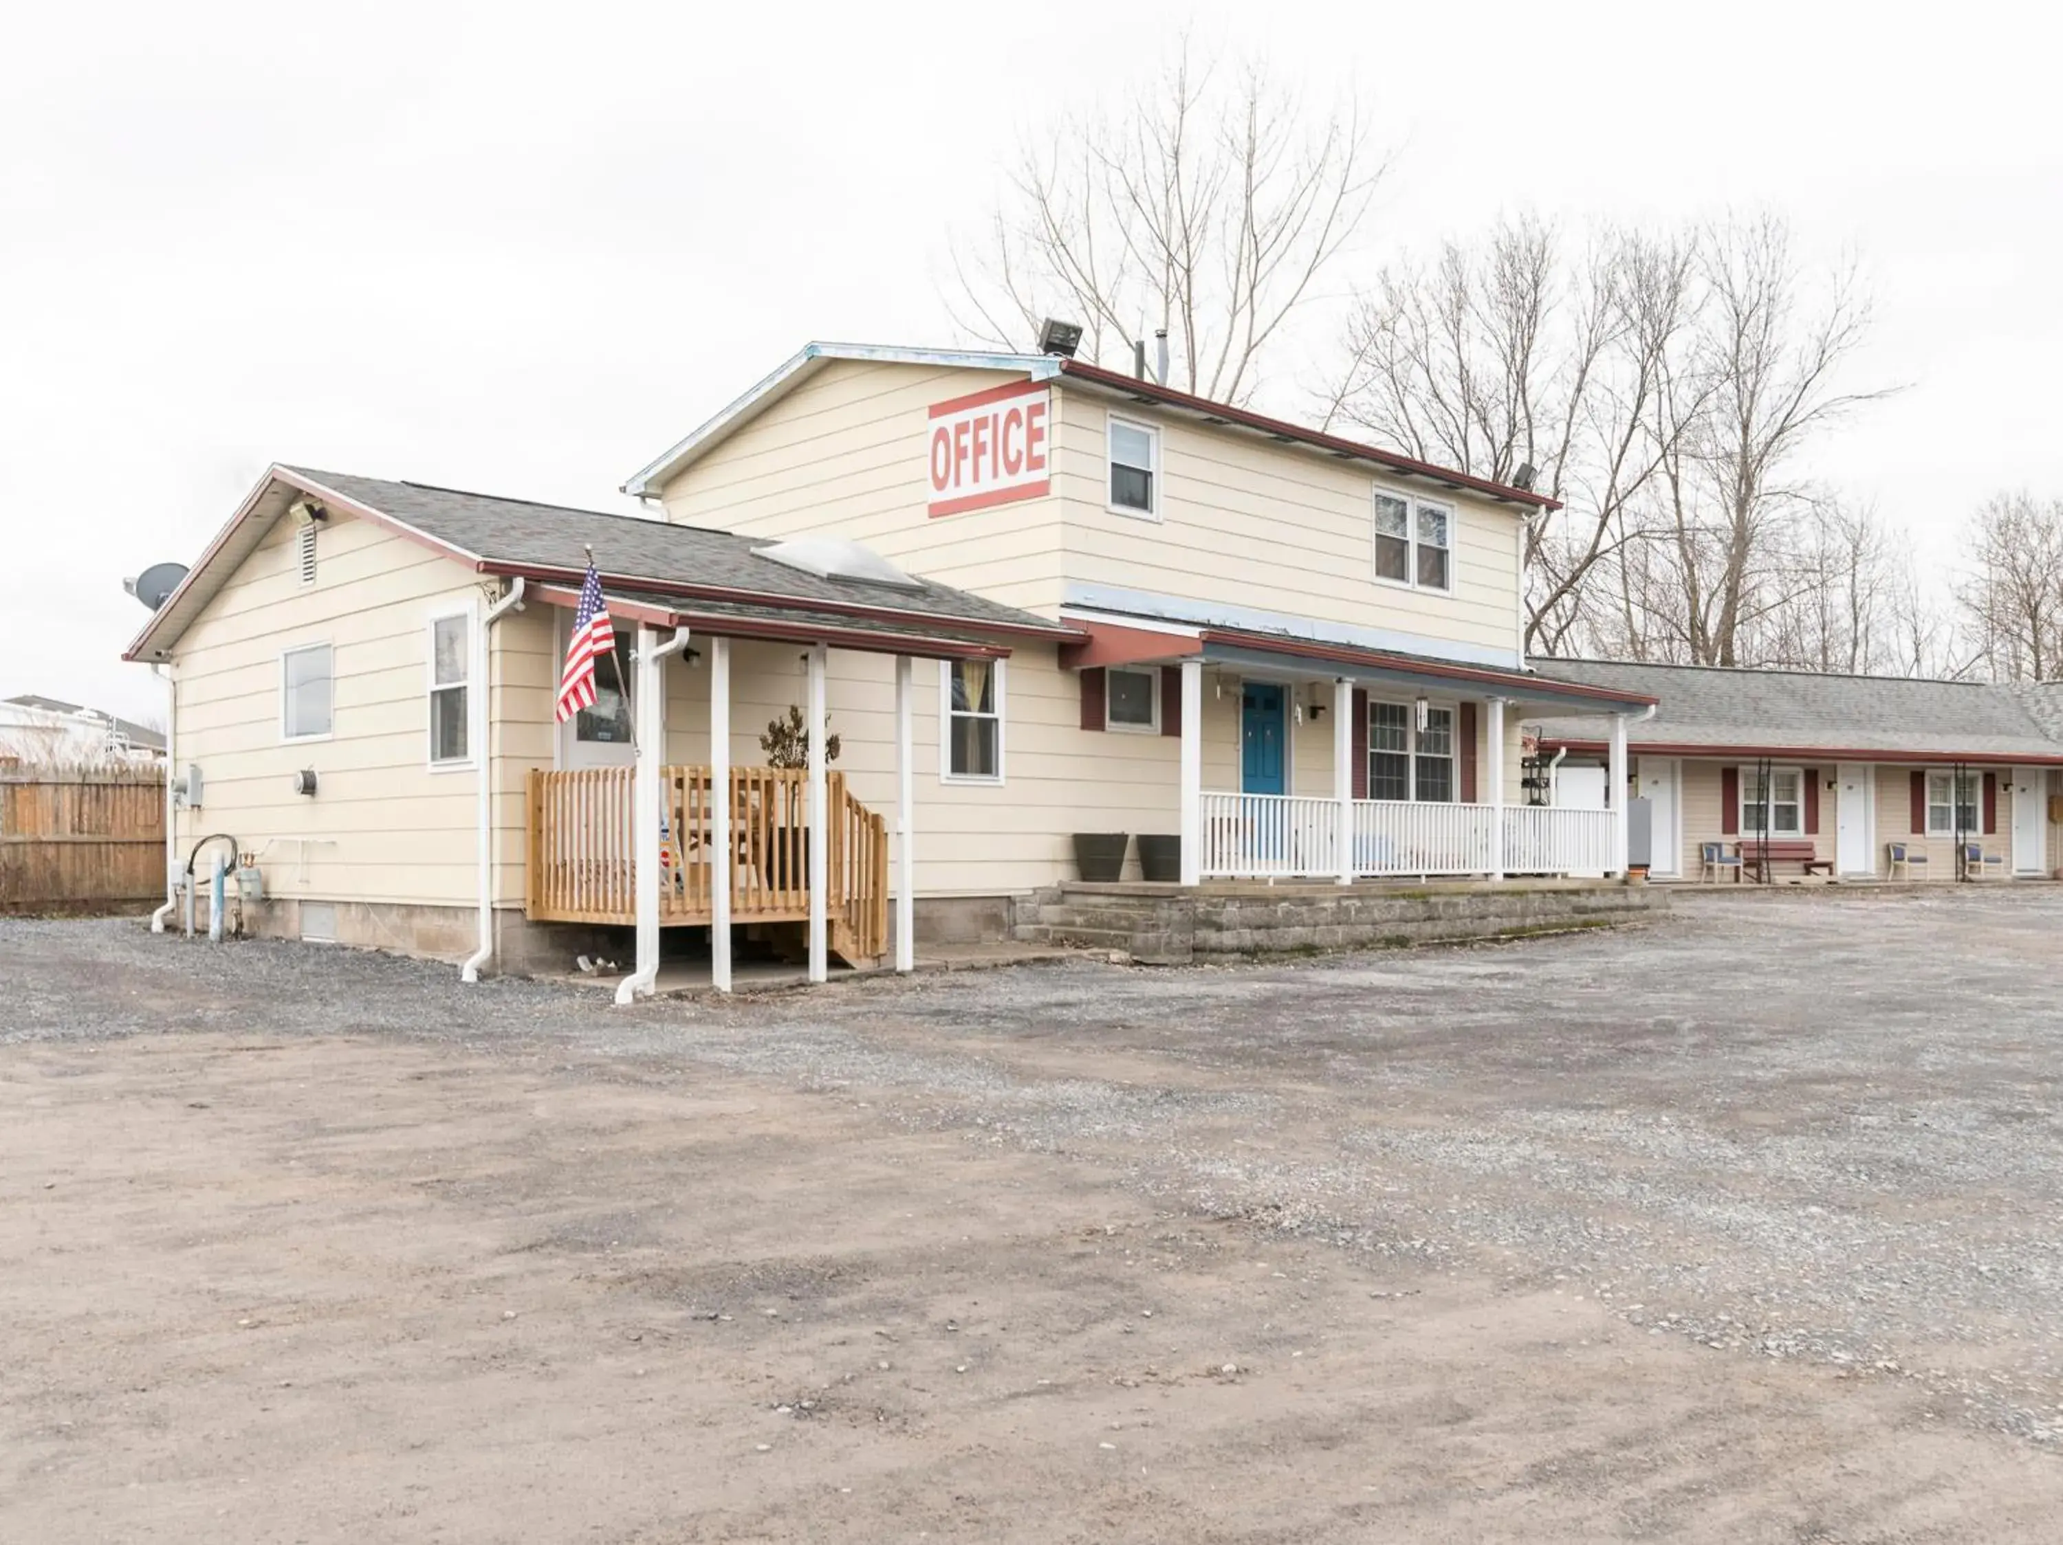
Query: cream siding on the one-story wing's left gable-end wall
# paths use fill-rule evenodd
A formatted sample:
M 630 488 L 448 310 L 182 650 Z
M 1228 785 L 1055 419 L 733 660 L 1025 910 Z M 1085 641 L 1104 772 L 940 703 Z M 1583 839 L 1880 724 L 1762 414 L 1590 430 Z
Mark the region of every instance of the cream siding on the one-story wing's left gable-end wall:
M 173 656 L 171 761 L 202 774 L 179 852 L 227 833 L 279 897 L 472 903 L 477 774 L 429 767 L 429 619 L 477 602 L 462 565 L 349 518 L 318 532 L 301 586 L 295 526 L 279 522 Z M 281 654 L 303 644 L 334 650 L 332 734 L 283 741 Z M 301 767 L 312 798 L 293 792 Z

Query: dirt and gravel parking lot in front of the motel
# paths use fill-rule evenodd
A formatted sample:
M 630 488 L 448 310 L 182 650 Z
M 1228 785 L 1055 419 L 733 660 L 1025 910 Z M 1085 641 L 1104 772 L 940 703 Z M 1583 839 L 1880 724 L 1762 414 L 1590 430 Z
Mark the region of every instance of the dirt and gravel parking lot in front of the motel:
M 0 922 L 0 1539 L 2053 1541 L 2059 936 L 615 1011 Z

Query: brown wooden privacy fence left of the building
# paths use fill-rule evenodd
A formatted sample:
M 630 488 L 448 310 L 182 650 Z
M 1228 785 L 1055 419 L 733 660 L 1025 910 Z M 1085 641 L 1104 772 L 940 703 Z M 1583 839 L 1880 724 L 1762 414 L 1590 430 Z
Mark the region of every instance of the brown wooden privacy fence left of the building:
M 0 771 L 0 912 L 163 897 L 163 767 Z

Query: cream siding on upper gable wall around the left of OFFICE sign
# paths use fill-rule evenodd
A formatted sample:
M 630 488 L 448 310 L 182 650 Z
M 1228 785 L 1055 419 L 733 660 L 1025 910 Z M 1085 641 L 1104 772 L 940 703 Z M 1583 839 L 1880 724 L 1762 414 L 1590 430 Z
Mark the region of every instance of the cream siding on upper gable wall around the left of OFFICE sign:
M 675 476 L 666 518 L 749 536 L 850 536 L 926 580 L 1052 615 L 1065 580 L 1052 497 L 926 514 L 930 404 L 1013 380 L 831 361 Z

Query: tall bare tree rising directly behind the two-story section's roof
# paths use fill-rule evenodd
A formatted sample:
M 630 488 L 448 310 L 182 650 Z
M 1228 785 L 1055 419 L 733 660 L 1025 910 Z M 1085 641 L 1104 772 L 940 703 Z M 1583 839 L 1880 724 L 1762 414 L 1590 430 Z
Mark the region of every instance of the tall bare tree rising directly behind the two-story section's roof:
M 1244 402 L 1380 173 L 1355 103 L 1310 111 L 1260 64 L 1199 62 L 1184 41 L 1116 120 L 1025 149 L 980 241 L 955 250 L 947 305 L 1005 349 L 1073 318 L 1083 355 L 1114 369 L 1164 328 L 1170 386 Z

